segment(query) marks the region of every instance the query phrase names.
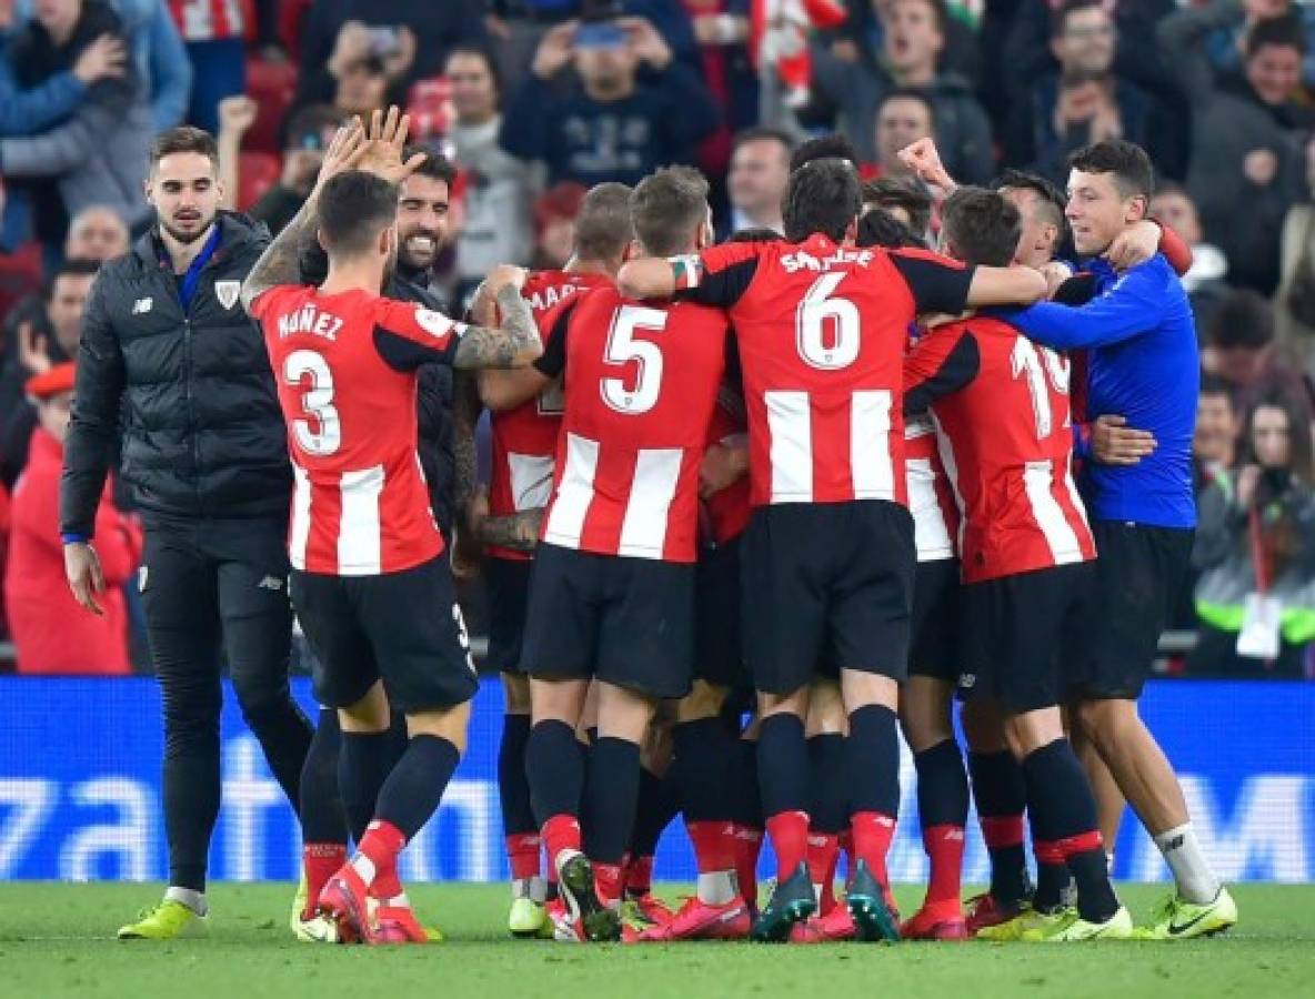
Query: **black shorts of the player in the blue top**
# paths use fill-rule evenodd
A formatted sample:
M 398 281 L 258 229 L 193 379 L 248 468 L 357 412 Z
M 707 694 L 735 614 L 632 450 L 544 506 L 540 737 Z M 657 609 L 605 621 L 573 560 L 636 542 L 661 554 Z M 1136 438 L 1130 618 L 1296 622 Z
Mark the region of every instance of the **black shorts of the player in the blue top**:
M 1069 695 L 1135 701 L 1191 565 L 1195 531 L 1093 521 L 1091 534 L 1091 627 L 1069 676 Z

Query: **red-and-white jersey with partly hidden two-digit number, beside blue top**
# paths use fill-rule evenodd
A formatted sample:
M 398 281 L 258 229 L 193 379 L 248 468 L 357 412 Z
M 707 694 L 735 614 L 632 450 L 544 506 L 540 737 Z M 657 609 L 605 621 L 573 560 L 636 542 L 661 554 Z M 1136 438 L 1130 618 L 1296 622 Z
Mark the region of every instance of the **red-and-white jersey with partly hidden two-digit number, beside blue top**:
M 905 379 L 905 406 L 930 404 L 942 431 L 964 582 L 1095 557 L 1073 482 L 1066 359 L 978 317 L 923 335 Z

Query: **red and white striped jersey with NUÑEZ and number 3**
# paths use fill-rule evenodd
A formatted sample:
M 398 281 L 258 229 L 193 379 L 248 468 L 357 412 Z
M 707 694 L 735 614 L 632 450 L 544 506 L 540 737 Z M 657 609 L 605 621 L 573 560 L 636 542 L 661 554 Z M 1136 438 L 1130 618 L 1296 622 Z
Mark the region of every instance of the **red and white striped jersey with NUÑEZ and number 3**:
M 288 425 L 296 569 L 377 576 L 443 551 L 416 453 L 416 369 L 450 363 L 466 329 L 364 290 L 271 288 L 260 321 Z

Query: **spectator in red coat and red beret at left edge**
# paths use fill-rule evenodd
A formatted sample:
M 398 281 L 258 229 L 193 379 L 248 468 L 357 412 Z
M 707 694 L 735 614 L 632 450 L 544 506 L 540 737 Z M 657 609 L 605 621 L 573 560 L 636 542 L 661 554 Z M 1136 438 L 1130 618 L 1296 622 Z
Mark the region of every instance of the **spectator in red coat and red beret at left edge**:
M 107 484 L 96 510 L 96 551 L 105 578 L 103 615 L 87 614 L 68 589 L 59 544 L 59 477 L 74 396 L 74 365 L 60 363 L 26 383 L 37 426 L 32 459 L 13 489 L 5 611 L 20 673 L 132 672 L 124 584 L 142 555 L 142 532 L 114 509 Z

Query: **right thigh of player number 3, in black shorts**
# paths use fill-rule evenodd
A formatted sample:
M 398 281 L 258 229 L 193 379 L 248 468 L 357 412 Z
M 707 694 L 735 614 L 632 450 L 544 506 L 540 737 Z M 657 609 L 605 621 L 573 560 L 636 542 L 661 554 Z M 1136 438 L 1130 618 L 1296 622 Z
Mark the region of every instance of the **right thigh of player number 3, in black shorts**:
M 475 697 L 479 678 L 446 555 L 351 585 L 394 711 L 443 712 Z

